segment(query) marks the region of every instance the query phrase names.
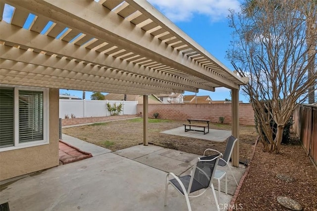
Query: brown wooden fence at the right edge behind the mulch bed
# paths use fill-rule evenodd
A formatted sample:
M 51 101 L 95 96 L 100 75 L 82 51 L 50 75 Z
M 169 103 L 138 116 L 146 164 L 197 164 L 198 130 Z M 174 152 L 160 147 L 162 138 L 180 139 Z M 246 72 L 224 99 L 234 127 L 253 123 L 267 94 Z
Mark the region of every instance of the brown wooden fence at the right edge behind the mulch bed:
M 294 131 L 317 165 L 317 105 L 300 105 L 293 115 Z

